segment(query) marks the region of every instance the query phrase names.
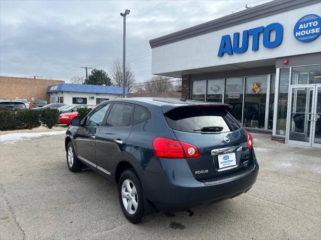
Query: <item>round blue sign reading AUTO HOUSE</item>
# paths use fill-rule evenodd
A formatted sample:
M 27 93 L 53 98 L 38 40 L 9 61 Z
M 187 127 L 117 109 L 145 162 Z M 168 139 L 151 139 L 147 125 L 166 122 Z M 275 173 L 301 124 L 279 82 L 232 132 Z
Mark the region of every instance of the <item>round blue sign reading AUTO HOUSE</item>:
M 302 42 L 310 42 L 320 35 L 321 17 L 316 14 L 302 16 L 293 29 L 294 37 Z

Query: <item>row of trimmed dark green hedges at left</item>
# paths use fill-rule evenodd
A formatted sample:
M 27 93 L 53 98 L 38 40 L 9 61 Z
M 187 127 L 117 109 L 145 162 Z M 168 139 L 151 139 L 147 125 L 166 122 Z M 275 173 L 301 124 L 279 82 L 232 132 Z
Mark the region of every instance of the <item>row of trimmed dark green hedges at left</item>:
M 0 130 L 14 130 L 28 128 L 32 129 L 41 124 L 52 128 L 57 124 L 59 111 L 57 109 L 45 108 L 41 110 L 23 109 L 14 111 L 0 111 Z

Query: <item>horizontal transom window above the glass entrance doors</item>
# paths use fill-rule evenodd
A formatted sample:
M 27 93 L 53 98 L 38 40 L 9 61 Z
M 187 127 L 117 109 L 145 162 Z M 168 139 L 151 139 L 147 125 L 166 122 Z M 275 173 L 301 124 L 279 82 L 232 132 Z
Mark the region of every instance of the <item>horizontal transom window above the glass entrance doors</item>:
M 317 83 L 321 83 L 321 65 L 292 67 L 292 85 Z

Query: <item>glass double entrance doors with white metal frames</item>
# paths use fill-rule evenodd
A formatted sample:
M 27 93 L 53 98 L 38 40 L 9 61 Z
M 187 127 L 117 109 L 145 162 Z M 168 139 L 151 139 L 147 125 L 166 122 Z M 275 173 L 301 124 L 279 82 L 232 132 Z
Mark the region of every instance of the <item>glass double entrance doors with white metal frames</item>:
M 287 142 L 321 147 L 320 85 L 290 87 Z

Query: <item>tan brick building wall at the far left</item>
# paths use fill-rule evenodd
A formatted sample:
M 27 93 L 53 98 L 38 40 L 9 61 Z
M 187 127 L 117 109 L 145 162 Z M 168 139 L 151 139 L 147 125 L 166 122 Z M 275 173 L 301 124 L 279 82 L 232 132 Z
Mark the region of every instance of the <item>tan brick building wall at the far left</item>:
M 64 82 L 62 80 L 0 76 L 0 98 L 8 100 L 14 100 L 17 96 L 26 98 L 31 102 L 30 107 L 34 107 L 34 102 L 38 99 L 48 100 L 49 102 L 48 86 Z M 31 100 L 32 97 L 35 98 L 34 101 Z

